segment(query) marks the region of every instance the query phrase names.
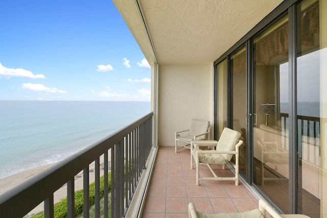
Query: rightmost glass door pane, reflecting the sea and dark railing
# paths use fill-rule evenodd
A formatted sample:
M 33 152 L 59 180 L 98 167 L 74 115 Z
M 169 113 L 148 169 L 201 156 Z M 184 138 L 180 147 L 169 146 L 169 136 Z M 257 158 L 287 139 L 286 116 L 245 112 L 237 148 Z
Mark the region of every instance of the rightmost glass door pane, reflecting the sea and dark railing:
M 297 8 L 297 208 L 298 213 L 311 217 L 327 215 L 323 209 L 327 206 L 323 201 L 326 167 L 321 156 L 325 150 L 321 129 L 326 117 L 326 59 L 322 60 L 326 55 L 327 10 L 325 2 L 321 3 L 303 1 Z

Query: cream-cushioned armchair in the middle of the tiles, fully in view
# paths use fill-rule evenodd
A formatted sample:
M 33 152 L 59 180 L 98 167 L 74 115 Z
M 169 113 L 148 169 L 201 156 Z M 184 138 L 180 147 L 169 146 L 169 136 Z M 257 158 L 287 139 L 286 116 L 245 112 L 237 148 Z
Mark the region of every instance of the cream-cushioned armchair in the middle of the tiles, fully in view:
M 224 128 L 219 141 L 192 141 L 191 142 L 191 169 L 193 169 L 193 158 L 196 165 L 196 185 L 199 185 L 199 180 L 232 180 L 235 181 L 235 185 L 239 185 L 239 148 L 243 144 L 242 140 L 239 140 L 241 133 Z M 216 150 L 201 150 L 194 148 L 194 146 L 216 146 Z M 230 161 L 232 155 L 235 154 L 235 177 L 218 177 L 214 172 L 211 164 L 222 165 L 223 169 L 225 164 Z M 200 177 L 199 165 L 207 165 L 214 175 L 214 177 Z

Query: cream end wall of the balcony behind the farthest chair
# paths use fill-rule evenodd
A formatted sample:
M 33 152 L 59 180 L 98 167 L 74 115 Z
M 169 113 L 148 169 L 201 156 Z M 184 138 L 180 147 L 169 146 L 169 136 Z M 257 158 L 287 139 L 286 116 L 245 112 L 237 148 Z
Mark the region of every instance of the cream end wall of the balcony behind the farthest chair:
M 175 146 L 174 133 L 189 129 L 192 118 L 213 126 L 213 71 L 212 63 L 159 65 L 159 146 Z

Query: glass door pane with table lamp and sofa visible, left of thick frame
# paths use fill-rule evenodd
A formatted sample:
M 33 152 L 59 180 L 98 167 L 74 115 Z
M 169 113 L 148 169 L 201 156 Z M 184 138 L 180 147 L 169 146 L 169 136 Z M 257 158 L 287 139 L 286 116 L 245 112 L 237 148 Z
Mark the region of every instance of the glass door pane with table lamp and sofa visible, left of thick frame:
M 288 213 L 288 16 L 254 38 L 253 60 L 253 183 Z

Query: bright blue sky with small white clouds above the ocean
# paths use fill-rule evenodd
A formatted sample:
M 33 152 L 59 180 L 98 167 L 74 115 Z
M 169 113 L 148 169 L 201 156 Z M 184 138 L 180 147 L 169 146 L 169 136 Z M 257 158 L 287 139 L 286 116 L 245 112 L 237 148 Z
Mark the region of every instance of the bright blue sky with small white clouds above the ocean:
M 150 101 L 150 66 L 111 0 L 0 11 L 0 100 Z

